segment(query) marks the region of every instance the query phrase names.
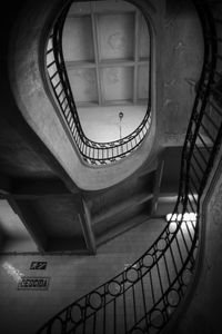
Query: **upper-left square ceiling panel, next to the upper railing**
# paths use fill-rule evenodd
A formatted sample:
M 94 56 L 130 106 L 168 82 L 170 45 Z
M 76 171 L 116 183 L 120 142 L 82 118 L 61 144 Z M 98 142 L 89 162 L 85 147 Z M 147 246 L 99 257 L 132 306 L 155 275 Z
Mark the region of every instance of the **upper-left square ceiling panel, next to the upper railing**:
M 62 38 L 65 61 L 92 61 L 94 48 L 90 16 L 68 17 Z

